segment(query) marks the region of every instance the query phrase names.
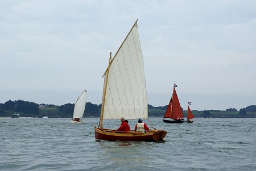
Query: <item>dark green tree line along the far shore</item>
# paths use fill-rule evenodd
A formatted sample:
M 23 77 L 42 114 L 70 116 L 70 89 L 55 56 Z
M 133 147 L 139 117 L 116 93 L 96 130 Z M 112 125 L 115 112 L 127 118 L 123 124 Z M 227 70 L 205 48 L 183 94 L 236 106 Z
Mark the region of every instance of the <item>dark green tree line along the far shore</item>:
M 39 106 L 43 106 L 39 108 Z M 154 107 L 148 105 L 148 117 L 163 117 L 167 106 Z M 0 103 L 0 117 L 13 117 L 19 114 L 20 117 L 60 117 L 72 118 L 75 104 L 52 105 L 36 104 L 35 102 L 14 100 Z M 250 105 L 239 111 L 234 108 L 226 110 L 192 110 L 195 117 L 256 117 L 256 105 Z M 92 104 L 86 102 L 84 117 L 100 117 L 101 104 Z M 183 110 L 184 116 L 187 116 L 187 110 Z

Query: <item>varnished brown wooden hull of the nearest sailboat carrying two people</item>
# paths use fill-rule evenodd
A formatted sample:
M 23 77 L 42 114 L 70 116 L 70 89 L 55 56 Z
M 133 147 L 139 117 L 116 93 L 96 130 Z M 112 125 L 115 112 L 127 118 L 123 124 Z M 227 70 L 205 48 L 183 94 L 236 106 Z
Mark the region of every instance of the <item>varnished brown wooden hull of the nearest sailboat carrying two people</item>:
M 164 137 L 167 132 L 164 130 L 149 130 L 146 133 L 134 131 L 115 131 L 110 129 L 99 129 L 94 127 L 95 138 L 97 140 L 110 141 L 150 141 L 150 142 L 164 142 Z

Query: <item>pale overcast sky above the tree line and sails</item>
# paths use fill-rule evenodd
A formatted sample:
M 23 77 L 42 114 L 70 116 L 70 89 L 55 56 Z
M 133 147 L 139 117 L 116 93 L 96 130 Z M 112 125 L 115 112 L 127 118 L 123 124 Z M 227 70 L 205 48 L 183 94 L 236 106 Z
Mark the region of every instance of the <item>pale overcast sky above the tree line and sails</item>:
M 101 104 L 109 53 L 138 20 L 148 104 L 256 105 L 256 1 L 0 1 L 0 103 Z

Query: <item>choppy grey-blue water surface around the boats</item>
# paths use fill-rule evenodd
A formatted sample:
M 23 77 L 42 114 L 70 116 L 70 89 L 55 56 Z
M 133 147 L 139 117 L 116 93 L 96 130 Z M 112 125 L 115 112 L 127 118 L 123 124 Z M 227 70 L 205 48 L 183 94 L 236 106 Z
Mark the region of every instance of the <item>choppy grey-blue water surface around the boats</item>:
M 148 126 L 168 132 L 164 143 L 96 142 L 99 119 L 83 120 L 0 118 L 0 170 L 256 170 L 255 118 L 181 124 L 150 118 Z M 104 121 L 107 128 L 119 125 Z

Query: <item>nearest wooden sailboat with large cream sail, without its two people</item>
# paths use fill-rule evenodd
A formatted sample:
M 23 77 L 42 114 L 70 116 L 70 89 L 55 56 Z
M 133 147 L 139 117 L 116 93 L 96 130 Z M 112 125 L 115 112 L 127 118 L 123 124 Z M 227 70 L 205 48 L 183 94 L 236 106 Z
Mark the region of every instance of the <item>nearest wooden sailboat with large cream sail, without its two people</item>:
M 148 118 L 147 105 L 144 62 L 136 21 L 113 59 L 110 53 L 109 66 L 104 73 L 100 123 L 94 127 L 96 140 L 163 142 L 167 134 L 164 130 L 141 133 L 102 128 L 103 119 Z

